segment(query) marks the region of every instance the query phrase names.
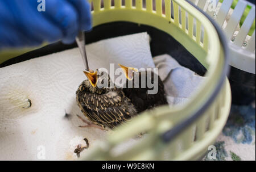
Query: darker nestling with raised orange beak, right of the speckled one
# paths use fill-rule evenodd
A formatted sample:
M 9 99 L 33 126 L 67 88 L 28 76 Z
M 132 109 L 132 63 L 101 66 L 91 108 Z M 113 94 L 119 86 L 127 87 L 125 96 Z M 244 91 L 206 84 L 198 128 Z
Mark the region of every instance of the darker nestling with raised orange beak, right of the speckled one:
M 131 100 L 131 103 L 133 103 L 138 113 L 163 104 L 168 104 L 164 85 L 158 74 L 148 69 L 145 71 L 138 71 L 135 68 L 126 67 L 121 64 L 118 65 L 123 69 L 127 78 L 123 92 L 126 97 Z M 154 86 L 158 89 L 155 93 L 148 84 L 152 82 L 155 82 Z M 151 90 L 152 93 L 150 94 L 148 90 Z

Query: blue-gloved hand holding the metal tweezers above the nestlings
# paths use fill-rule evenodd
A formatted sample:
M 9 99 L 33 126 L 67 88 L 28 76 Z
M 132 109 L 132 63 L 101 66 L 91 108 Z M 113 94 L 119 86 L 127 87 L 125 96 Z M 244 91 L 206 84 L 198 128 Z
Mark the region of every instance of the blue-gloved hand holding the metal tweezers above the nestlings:
M 40 45 L 43 41 L 73 43 L 77 33 L 92 27 L 86 0 L 0 0 L 0 48 Z

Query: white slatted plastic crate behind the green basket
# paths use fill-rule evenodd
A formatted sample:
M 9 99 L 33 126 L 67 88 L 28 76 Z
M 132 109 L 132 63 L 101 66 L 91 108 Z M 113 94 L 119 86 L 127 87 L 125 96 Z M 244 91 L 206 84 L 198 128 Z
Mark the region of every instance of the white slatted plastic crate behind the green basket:
M 223 0 L 222 3 L 219 0 L 190 1 L 212 16 L 224 30 L 231 53 L 230 65 L 255 74 L 255 28 L 253 34 L 248 35 L 255 20 L 255 5 L 239 0 L 233 10 L 232 4 L 236 0 Z M 250 12 L 240 27 L 242 15 L 248 5 L 251 6 Z

